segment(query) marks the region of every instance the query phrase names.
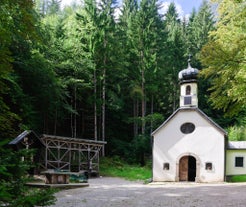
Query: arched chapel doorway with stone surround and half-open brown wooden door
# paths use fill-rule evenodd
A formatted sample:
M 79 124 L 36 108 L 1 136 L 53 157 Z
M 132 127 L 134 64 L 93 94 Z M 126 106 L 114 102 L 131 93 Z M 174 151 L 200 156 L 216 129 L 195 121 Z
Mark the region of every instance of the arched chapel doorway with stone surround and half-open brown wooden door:
M 199 182 L 200 159 L 192 153 L 185 153 L 176 162 L 176 181 Z

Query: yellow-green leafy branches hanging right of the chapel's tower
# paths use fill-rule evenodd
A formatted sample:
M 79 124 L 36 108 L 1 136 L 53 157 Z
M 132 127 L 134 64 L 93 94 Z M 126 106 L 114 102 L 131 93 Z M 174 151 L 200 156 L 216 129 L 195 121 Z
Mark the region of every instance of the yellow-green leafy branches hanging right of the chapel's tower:
M 201 51 L 206 67 L 202 74 L 211 82 L 210 100 L 225 115 L 246 107 L 246 5 L 244 1 L 219 1 L 216 29 Z

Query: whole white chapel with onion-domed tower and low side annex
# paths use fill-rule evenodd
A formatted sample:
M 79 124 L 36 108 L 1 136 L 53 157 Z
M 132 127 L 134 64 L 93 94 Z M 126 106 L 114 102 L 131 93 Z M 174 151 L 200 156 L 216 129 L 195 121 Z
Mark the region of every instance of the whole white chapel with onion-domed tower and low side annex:
M 246 144 L 228 143 L 226 131 L 198 108 L 197 76 L 189 60 L 179 72 L 180 107 L 152 133 L 154 182 L 222 182 L 246 174 Z

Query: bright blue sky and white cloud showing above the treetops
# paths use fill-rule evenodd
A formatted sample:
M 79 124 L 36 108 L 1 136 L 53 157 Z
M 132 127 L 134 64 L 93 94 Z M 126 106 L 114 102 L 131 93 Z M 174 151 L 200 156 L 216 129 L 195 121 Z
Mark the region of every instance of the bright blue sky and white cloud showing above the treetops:
M 64 5 L 69 5 L 73 1 L 80 2 L 80 0 L 62 0 L 61 4 L 62 7 Z M 171 2 L 176 4 L 176 9 L 180 16 L 187 16 L 192 12 L 192 9 L 195 8 L 198 11 L 200 5 L 202 4 L 203 0 L 161 0 L 162 2 L 162 10 L 161 13 L 165 13 L 168 8 L 168 5 Z

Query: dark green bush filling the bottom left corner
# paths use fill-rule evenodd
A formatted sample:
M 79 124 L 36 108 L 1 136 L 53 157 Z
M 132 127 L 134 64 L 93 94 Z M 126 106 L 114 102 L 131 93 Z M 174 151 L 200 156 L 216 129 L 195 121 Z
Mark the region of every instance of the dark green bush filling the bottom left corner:
M 12 151 L 0 145 L 0 206 L 34 207 L 54 204 L 53 189 L 34 189 L 25 186 L 32 167 L 32 151 Z M 25 161 L 21 160 L 25 157 Z

